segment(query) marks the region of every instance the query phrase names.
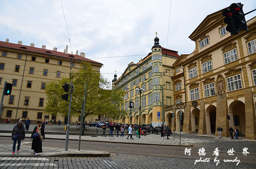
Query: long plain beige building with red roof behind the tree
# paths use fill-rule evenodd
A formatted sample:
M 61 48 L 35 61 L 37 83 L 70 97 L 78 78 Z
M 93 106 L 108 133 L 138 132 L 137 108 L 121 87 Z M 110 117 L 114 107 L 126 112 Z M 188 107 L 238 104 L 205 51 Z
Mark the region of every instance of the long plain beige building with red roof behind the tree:
M 64 116 L 52 116 L 44 114 L 46 104 L 45 85 L 49 81 L 56 81 L 61 77 L 70 76 L 70 61 L 72 59 L 72 72 L 80 69 L 81 61 L 92 64 L 93 70 L 100 73 L 101 63 L 85 58 L 85 53 L 76 51 L 76 55 L 67 53 L 68 45 L 64 52 L 0 41 L 0 93 L 2 94 L 4 83 L 12 83 L 11 95 L 4 96 L 1 112 L 1 122 L 10 118 L 10 122 L 16 122 L 18 118 L 30 118 L 31 123 L 48 120 L 61 120 L 67 123 L 68 118 Z M 1 95 L 2 96 L 2 95 Z M 29 104 L 26 105 L 25 102 Z M 95 121 L 98 117 L 86 118 L 87 121 Z M 78 117 L 71 117 L 74 124 Z

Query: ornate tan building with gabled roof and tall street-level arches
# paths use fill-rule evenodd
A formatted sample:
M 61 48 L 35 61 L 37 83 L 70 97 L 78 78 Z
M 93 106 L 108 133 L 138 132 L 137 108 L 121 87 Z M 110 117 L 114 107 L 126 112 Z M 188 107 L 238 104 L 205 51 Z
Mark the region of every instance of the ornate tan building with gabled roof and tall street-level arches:
M 256 17 L 247 26 L 248 32 L 230 35 L 220 10 L 208 15 L 189 36 L 195 50 L 173 64 L 175 104 L 165 107 L 171 126 L 175 113 L 174 130 L 180 130 L 181 110 L 183 132 L 218 136 L 220 126 L 222 136 L 230 137 L 232 126 L 246 139 L 256 139 Z

